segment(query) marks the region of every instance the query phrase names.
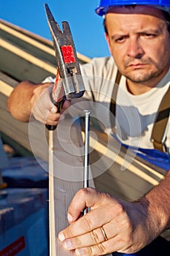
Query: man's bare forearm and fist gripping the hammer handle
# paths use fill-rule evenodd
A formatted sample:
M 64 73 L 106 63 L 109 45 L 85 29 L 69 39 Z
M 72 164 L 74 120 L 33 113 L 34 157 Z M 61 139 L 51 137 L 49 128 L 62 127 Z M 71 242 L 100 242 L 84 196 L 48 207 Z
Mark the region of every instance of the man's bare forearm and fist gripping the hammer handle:
M 57 113 L 58 108 L 50 100 L 52 85 L 53 83 L 35 84 L 31 81 L 18 83 L 7 101 L 9 112 L 20 121 L 28 122 L 32 113 L 38 121 L 56 125 L 61 114 Z M 63 110 L 68 106 L 69 102 L 64 102 Z

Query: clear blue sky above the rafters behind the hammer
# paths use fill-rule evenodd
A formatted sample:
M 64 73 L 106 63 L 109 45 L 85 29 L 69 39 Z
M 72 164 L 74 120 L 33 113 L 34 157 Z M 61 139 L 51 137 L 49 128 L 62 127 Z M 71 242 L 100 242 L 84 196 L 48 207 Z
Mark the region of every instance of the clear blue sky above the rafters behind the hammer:
M 0 0 L 0 18 L 50 39 L 44 4 L 61 26 L 68 21 L 77 52 L 93 57 L 109 56 L 103 18 L 94 11 L 99 0 Z

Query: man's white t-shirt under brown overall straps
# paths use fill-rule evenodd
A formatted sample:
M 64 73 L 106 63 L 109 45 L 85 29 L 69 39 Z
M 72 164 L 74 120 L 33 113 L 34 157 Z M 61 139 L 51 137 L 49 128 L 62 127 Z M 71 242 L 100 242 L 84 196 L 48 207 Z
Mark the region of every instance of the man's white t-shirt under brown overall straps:
M 110 99 L 115 86 L 117 67 L 113 57 L 95 58 L 81 66 L 82 78 L 85 83 L 85 94 L 75 99 L 70 109 L 73 116 L 81 115 L 85 109 L 93 110 L 95 116 L 103 124 L 103 129 L 111 133 Z M 48 78 L 46 81 L 51 81 Z M 152 90 L 144 94 L 130 94 L 126 88 L 125 77 L 121 77 L 117 92 L 116 135 L 126 145 L 140 148 L 153 148 L 151 133 L 155 116 L 161 99 L 170 85 L 170 69 L 166 76 Z M 82 100 L 88 99 L 87 102 Z M 81 102 L 81 103 L 80 103 Z M 170 118 L 169 118 L 170 122 Z M 166 148 L 170 149 L 170 128 L 166 127 Z

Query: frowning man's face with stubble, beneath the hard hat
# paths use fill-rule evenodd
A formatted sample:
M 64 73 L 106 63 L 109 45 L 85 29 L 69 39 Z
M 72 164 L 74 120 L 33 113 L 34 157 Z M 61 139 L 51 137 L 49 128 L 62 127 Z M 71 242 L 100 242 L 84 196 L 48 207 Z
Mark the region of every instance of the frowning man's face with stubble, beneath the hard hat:
M 152 15 L 154 13 L 154 15 Z M 169 69 L 170 36 L 161 10 L 117 7 L 106 15 L 109 50 L 134 83 L 155 86 Z

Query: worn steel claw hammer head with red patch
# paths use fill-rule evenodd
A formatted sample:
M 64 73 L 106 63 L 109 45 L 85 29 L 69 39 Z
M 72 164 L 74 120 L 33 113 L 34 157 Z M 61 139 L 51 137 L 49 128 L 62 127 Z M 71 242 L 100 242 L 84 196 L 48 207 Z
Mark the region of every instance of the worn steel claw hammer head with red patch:
M 50 34 L 53 39 L 56 64 L 59 76 L 62 80 L 64 95 L 66 99 L 80 98 L 85 92 L 85 87 L 69 23 L 63 21 L 61 31 L 47 4 L 45 4 L 45 12 Z M 62 86 L 58 85 L 55 87 L 56 89 L 53 90 L 53 95 L 57 99 L 58 94 L 61 94 Z

